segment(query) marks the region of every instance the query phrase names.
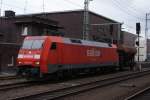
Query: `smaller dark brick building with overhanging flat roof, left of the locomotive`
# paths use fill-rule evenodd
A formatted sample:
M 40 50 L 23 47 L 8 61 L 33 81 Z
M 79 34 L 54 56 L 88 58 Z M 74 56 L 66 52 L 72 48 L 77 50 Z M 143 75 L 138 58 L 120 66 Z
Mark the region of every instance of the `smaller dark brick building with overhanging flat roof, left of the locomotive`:
M 8 71 L 16 65 L 16 57 L 22 41 L 27 35 L 55 35 L 58 22 L 36 16 L 15 16 L 6 11 L 0 18 L 0 71 Z

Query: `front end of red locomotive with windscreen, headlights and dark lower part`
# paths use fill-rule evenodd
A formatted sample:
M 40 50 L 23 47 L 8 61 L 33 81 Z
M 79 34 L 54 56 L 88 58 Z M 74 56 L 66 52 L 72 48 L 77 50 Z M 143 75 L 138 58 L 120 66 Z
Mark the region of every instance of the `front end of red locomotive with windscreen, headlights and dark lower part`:
M 18 54 L 18 74 L 36 75 L 40 72 L 44 37 L 26 37 Z

